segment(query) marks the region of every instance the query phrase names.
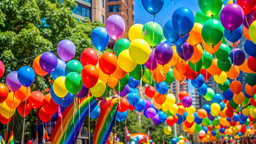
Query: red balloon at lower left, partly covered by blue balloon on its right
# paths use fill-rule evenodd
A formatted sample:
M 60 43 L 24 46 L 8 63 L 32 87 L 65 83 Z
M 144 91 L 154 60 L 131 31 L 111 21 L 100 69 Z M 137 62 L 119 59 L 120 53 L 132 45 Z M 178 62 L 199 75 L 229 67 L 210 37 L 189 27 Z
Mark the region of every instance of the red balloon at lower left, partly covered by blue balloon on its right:
M 53 115 L 55 112 L 57 112 L 59 107 L 59 105 L 52 100 L 50 94 L 45 95 L 42 105 L 49 115 Z

